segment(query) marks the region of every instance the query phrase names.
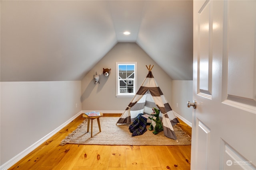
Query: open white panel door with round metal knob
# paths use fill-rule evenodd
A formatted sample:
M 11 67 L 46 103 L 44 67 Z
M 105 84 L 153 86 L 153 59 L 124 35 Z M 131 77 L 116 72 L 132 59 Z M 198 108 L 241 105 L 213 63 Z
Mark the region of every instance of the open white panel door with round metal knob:
M 255 0 L 194 0 L 193 99 L 191 169 L 256 169 Z

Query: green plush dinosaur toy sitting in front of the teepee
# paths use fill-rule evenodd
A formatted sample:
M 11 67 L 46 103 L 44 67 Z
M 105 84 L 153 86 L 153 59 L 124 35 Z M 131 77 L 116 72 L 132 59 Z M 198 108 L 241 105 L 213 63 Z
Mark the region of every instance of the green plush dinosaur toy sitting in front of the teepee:
M 156 109 L 155 107 L 152 108 L 152 110 L 154 111 L 154 113 L 151 113 L 152 117 L 148 117 L 149 119 L 152 120 L 152 123 L 150 124 L 150 127 L 148 128 L 148 130 L 153 131 L 153 133 L 156 135 L 159 132 L 163 131 L 163 125 L 162 125 L 162 121 L 159 119 L 159 113 L 160 110 Z

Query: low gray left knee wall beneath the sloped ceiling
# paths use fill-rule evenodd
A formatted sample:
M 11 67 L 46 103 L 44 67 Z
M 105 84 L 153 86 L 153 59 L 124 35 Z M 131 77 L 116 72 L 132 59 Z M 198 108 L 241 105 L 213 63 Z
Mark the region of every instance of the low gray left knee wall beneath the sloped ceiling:
M 81 81 L 1 82 L 0 87 L 1 166 L 82 108 Z

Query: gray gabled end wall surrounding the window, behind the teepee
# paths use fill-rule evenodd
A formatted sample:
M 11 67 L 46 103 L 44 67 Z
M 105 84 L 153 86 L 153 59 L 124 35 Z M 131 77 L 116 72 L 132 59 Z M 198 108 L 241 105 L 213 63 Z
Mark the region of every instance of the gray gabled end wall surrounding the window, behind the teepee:
M 148 73 L 146 65 L 154 65 L 152 73 L 167 101 L 172 102 L 172 79 L 136 43 L 117 43 L 82 79 L 82 110 L 124 111 L 132 98 L 116 98 L 116 62 L 136 61 L 138 64 L 138 88 Z M 108 77 L 103 68 L 111 68 Z M 100 74 L 100 84 L 94 84 L 93 76 Z

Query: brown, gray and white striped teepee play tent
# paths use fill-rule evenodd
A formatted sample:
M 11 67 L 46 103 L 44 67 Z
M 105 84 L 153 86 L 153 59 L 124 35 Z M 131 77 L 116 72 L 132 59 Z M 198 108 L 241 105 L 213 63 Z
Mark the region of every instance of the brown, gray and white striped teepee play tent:
M 179 123 L 179 121 L 154 79 L 151 72 L 153 66 L 151 68 L 150 65 L 149 67 L 146 66 L 148 68 L 148 75 L 142 82 L 142 85 L 134 98 L 132 98 L 130 104 L 126 107 L 124 113 L 122 113 L 118 119 L 117 123 L 130 123 L 134 121 L 139 113 L 150 115 L 152 113 L 152 108 L 156 107 L 161 112 L 159 116 L 162 116 L 164 135 L 176 140 L 173 126 Z

